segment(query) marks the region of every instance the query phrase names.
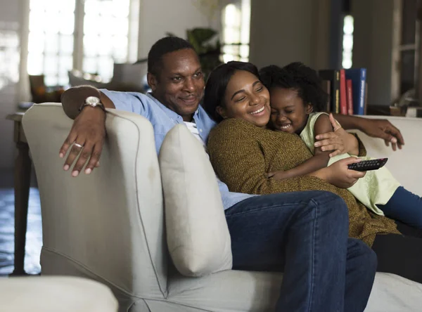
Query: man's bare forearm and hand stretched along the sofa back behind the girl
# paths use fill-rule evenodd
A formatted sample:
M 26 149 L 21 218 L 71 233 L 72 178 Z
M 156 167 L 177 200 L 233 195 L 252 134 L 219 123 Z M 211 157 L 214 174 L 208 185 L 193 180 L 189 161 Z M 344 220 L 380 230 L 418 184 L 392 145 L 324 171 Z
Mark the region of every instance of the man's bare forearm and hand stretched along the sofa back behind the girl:
M 344 129 L 358 129 L 373 138 L 382 138 L 385 145 L 392 145 L 392 149 L 399 149 L 404 145 L 404 138 L 399 129 L 386 119 L 367 119 L 356 116 L 334 114 Z

